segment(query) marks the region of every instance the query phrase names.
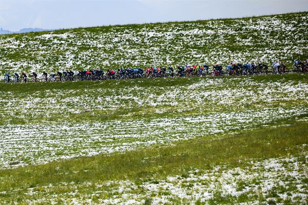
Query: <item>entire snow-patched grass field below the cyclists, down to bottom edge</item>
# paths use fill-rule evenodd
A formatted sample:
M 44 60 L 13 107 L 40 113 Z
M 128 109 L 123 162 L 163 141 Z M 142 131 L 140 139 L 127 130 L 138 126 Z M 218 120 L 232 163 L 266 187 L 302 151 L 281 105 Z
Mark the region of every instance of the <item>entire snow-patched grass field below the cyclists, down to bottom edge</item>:
M 2 83 L 0 203 L 305 204 L 307 78 Z

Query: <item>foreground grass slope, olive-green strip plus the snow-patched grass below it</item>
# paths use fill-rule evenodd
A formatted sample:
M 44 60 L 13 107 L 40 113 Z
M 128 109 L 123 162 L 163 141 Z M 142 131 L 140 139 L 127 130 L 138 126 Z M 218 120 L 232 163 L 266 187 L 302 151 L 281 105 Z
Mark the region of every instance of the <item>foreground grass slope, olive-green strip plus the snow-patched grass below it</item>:
M 0 171 L 2 202 L 276 203 L 307 200 L 307 123 Z

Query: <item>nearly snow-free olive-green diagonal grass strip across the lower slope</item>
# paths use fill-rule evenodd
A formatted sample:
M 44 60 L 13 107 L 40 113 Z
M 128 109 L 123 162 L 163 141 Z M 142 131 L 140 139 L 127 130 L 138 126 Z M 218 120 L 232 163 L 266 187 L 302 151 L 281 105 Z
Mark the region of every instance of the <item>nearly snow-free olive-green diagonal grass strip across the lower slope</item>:
M 0 170 L 0 191 L 71 181 L 138 181 L 152 176 L 160 179 L 169 175 L 184 176 L 192 167 L 211 169 L 224 164 L 237 167 L 250 159 L 297 156 L 298 146 L 308 143 L 307 125 L 306 122 L 293 122 L 290 126 L 243 131 L 217 140 L 204 137 L 162 148 Z

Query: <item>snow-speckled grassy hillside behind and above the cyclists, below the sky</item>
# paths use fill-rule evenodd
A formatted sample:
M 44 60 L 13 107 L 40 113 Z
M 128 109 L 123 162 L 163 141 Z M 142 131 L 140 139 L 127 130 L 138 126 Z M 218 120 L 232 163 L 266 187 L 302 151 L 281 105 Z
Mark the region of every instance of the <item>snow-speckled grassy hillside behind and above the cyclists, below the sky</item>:
M 0 72 L 306 60 L 307 12 L 0 36 Z

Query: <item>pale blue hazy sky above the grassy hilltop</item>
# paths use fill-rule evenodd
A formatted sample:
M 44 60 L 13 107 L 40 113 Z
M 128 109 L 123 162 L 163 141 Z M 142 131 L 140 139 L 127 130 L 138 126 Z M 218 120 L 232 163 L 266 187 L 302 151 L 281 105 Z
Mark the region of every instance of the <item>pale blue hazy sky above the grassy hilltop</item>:
M 308 0 L 0 0 L 0 28 L 76 28 L 308 11 Z

